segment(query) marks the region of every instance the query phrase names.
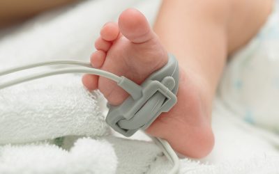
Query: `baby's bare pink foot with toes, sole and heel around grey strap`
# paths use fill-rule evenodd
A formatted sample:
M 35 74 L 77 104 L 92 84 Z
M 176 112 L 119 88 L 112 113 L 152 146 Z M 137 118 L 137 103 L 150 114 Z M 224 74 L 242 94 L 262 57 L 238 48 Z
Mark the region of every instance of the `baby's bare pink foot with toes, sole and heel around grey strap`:
M 94 68 L 125 76 L 137 84 L 168 60 L 167 51 L 156 33 L 144 15 L 135 9 L 121 13 L 118 24 L 105 24 L 95 47 L 97 51 L 91 55 Z M 146 132 L 166 139 L 182 155 L 204 157 L 212 149 L 213 134 L 203 101 L 204 92 L 199 86 L 201 78 L 193 78 L 197 75 L 189 78 L 190 75 L 180 70 L 177 104 L 168 113 L 161 114 Z M 89 90 L 98 88 L 112 105 L 119 105 L 128 97 L 128 93 L 109 79 L 86 74 L 82 81 Z

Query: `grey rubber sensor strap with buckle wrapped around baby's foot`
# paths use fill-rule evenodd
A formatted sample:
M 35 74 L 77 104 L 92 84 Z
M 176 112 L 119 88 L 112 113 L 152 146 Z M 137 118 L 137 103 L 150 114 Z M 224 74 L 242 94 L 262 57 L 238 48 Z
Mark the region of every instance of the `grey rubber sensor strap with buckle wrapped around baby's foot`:
M 118 85 L 130 97 L 119 106 L 108 104 L 106 122 L 124 136 L 132 136 L 138 129 L 146 129 L 177 102 L 179 65 L 172 54 L 169 54 L 167 65 L 153 72 L 141 86 L 126 77 L 121 78 Z

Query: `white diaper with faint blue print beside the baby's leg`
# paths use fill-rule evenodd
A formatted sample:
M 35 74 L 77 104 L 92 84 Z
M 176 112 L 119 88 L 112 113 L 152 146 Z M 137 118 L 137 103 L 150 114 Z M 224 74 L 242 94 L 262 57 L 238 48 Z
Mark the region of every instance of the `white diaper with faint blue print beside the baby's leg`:
M 255 38 L 229 59 L 218 97 L 236 116 L 279 133 L 279 1 Z

